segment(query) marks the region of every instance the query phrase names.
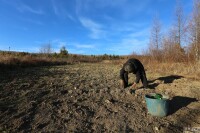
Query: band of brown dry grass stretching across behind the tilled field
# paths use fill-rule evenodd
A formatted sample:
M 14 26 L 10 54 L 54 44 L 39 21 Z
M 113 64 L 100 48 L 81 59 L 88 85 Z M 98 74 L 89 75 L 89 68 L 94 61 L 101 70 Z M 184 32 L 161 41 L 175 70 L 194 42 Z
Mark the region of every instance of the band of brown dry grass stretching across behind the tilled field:
M 105 57 L 104 57 L 105 58 Z M 102 56 L 71 55 L 67 58 L 54 56 L 31 55 L 27 53 L 0 52 L 0 68 L 18 68 L 33 66 L 49 66 L 73 64 L 76 62 L 102 62 L 122 67 L 129 58 L 139 59 L 150 73 L 174 74 L 200 79 L 200 62 L 159 62 L 147 56 L 121 56 L 120 59 L 102 59 Z

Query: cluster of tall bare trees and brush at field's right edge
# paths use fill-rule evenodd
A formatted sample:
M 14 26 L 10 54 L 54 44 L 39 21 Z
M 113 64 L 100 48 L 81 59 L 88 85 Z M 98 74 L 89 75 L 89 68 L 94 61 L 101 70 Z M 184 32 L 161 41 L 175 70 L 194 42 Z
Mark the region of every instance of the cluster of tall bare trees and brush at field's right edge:
M 180 0 L 176 1 L 174 22 L 163 33 L 161 20 L 153 18 L 149 49 L 146 53 L 160 62 L 200 61 L 200 0 L 193 0 L 189 17 L 184 14 Z

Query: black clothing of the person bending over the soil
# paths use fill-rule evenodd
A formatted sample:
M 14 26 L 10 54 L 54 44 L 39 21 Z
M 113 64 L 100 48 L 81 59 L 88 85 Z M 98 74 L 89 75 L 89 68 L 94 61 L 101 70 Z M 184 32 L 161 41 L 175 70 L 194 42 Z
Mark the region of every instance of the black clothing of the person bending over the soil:
M 143 86 L 147 87 L 147 78 L 144 70 L 144 66 L 138 59 L 129 59 L 126 63 L 124 63 L 122 69 L 120 70 L 120 79 L 124 82 L 124 88 L 128 86 L 128 72 L 124 70 L 124 67 L 129 64 L 132 67 L 131 73 L 136 74 L 135 83 L 139 83 L 140 79 L 142 81 Z M 130 72 L 129 72 L 130 73 Z

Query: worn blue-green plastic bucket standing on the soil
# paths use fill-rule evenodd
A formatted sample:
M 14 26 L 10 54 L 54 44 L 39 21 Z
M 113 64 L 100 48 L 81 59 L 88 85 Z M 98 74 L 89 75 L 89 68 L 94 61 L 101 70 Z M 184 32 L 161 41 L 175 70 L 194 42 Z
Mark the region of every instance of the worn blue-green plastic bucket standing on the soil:
M 156 93 L 145 95 L 148 112 L 153 116 L 166 116 L 169 111 L 169 97 L 162 95 L 162 98 L 155 98 Z

